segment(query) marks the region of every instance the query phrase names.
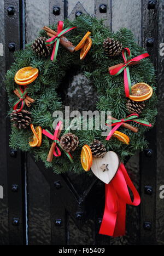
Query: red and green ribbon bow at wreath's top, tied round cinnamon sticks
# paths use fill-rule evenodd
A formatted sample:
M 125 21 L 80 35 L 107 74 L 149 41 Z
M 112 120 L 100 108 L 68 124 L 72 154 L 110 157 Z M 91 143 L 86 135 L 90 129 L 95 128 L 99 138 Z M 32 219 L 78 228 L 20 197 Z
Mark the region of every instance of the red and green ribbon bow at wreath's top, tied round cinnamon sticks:
M 56 61 L 58 45 L 60 43 L 61 36 L 63 36 L 65 33 L 69 32 L 70 30 L 73 30 L 73 29 L 76 28 L 76 27 L 67 27 L 66 29 L 63 30 L 63 25 L 64 25 L 63 21 L 58 21 L 58 24 L 57 24 L 57 34 L 45 41 L 45 44 L 47 44 L 47 45 L 55 43 L 54 44 L 54 49 L 53 49 L 52 55 L 51 55 L 51 60 L 53 62 Z

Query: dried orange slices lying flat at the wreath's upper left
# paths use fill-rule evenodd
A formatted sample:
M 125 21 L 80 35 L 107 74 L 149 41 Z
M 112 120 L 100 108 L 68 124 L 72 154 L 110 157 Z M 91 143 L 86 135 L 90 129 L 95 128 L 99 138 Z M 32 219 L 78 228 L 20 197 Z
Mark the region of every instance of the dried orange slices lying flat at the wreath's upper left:
M 36 67 L 23 67 L 16 72 L 15 79 L 20 82 L 25 82 L 26 80 L 32 79 L 34 76 L 38 75 L 38 69 Z

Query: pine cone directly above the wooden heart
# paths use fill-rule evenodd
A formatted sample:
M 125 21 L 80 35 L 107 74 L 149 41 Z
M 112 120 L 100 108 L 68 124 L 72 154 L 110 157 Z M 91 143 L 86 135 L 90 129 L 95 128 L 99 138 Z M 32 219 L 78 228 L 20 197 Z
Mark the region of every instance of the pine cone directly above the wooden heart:
M 96 158 L 103 157 L 107 152 L 106 148 L 99 140 L 93 140 L 90 148 L 92 151 L 92 156 Z

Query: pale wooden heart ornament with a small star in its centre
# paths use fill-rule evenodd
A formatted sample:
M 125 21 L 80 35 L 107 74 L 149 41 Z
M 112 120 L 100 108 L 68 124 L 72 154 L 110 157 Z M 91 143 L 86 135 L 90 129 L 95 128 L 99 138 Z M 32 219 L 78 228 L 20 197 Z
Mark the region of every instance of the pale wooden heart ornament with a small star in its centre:
M 119 157 L 113 151 L 108 151 L 104 157 L 95 158 L 91 166 L 92 172 L 104 183 L 109 184 L 119 168 Z

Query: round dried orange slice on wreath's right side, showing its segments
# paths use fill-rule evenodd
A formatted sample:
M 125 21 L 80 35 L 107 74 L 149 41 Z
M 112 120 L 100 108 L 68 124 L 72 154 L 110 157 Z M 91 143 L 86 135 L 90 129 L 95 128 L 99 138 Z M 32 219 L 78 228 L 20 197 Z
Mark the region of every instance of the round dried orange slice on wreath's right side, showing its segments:
M 153 88 L 146 83 L 137 83 L 132 86 L 132 93 L 129 96 L 131 100 L 148 100 L 153 94 Z

